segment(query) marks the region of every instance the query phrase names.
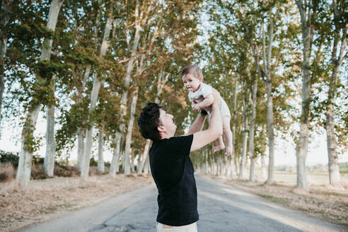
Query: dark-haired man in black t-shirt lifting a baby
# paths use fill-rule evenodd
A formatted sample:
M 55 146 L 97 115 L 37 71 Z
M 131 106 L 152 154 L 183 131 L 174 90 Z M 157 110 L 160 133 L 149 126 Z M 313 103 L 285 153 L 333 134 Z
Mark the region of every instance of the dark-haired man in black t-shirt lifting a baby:
M 151 139 L 150 168 L 158 189 L 157 231 L 197 231 L 197 188 L 190 152 L 211 143 L 222 134 L 216 92 L 209 128 L 201 131 L 207 112 L 201 112 L 185 136 L 174 137 L 173 115 L 149 103 L 138 118 L 141 135 Z

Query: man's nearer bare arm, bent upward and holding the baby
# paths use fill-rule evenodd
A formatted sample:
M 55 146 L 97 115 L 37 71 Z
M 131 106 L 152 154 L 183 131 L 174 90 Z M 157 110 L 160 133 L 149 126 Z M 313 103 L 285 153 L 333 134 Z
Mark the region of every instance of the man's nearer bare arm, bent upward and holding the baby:
M 193 141 L 190 151 L 196 151 L 203 146 L 211 143 L 222 135 L 222 118 L 220 113 L 220 96 L 216 93 L 214 95 L 214 103 L 211 105 L 211 118 L 209 128 L 193 134 Z

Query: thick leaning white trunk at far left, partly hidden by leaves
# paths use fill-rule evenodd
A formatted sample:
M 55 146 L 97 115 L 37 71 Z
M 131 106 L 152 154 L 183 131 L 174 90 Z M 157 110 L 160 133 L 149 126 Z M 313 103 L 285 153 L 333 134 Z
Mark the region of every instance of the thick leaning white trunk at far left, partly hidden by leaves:
M 60 8 L 62 7 L 64 0 L 52 0 L 50 5 L 50 12 L 48 14 L 48 20 L 47 20 L 47 29 L 54 31 L 57 25 L 57 19 L 58 14 L 60 11 Z M 40 61 L 48 61 L 51 57 L 52 52 L 52 42 L 53 40 L 45 39 L 42 50 L 41 50 L 41 57 Z M 37 77 L 40 78 L 40 77 Z M 39 105 L 33 105 L 28 110 L 28 115 L 25 120 L 25 125 L 23 127 L 22 132 L 22 146 L 21 146 L 21 156 L 20 160 L 18 162 L 18 171 L 17 171 L 17 177 L 16 181 L 18 182 L 19 187 L 25 188 L 28 186 L 30 181 L 30 173 L 31 173 L 31 162 L 33 158 L 33 151 L 31 151 L 28 146 L 28 140 L 30 138 L 33 138 L 33 132 L 35 129 L 35 124 L 37 121 L 37 115 L 40 111 L 40 104 Z

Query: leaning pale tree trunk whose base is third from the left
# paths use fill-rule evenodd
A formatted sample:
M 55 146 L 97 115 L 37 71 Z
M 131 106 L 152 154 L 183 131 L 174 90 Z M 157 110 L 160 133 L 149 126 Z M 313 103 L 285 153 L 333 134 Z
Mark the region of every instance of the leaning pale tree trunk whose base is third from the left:
M 111 23 L 113 18 L 113 14 L 112 14 L 113 6 L 114 4 L 113 2 L 111 2 L 108 20 L 105 24 L 103 41 L 100 47 L 99 59 L 103 59 L 103 57 L 106 54 L 106 51 L 108 50 L 108 46 L 109 46 L 108 37 L 110 36 L 110 28 L 111 28 Z M 93 81 L 92 93 L 91 93 L 91 105 L 88 112 L 88 121 L 91 120 L 91 114 L 95 110 L 95 106 L 98 100 L 99 90 L 100 90 L 100 87 L 103 86 L 103 83 L 104 83 L 103 80 L 99 79 L 98 76 L 95 76 Z M 92 131 L 93 131 L 93 126 L 91 126 L 91 128 L 86 129 L 86 144 L 83 149 L 83 158 L 82 158 L 82 165 L 81 165 L 81 180 L 86 180 L 88 178 L 89 163 L 91 159 L 91 149 L 93 144 Z

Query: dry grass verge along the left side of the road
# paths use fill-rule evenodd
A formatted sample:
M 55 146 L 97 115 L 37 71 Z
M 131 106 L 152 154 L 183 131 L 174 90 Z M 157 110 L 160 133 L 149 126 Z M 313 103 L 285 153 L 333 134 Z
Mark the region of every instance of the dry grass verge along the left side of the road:
M 79 178 L 50 178 L 31 180 L 25 192 L 18 190 L 14 180 L 3 182 L 0 183 L 0 231 L 19 231 L 151 182 L 152 178 L 124 175 L 116 178 L 97 175 L 83 182 Z

